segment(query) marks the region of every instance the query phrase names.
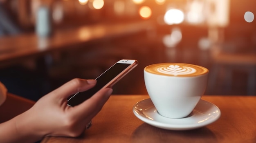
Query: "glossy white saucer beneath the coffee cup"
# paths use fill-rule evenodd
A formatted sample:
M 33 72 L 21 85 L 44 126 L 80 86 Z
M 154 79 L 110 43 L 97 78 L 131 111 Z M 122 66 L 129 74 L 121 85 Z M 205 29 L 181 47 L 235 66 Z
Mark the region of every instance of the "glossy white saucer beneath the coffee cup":
M 150 99 L 133 106 L 133 113 L 141 121 L 167 130 L 191 130 L 213 123 L 220 117 L 220 109 L 208 101 L 200 100 L 188 117 L 172 119 L 161 116 Z

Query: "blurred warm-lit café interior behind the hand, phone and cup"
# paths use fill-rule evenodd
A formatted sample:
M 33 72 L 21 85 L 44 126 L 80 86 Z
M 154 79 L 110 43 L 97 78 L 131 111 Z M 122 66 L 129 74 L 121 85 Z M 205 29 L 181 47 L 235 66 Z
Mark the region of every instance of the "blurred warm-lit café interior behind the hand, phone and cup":
M 0 0 L 0 81 L 32 100 L 119 59 L 113 94 L 147 94 L 143 68 L 210 70 L 205 95 L 256 95 L 255 0 Z

